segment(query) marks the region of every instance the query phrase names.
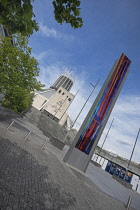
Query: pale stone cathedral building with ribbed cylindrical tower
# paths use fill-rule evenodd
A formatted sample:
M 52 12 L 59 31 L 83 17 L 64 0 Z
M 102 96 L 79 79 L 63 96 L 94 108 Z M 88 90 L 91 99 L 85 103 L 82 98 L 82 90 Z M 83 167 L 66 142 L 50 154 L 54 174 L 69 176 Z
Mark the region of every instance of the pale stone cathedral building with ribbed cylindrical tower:
M 73 79 L 63 74 L 50 88 L 35 92 L 32 106 L 46 111 L 50 118 L 70 129 L 72 121 L 67 109 L 74 99 L 74 95 L 69 92 L 72 86 Z

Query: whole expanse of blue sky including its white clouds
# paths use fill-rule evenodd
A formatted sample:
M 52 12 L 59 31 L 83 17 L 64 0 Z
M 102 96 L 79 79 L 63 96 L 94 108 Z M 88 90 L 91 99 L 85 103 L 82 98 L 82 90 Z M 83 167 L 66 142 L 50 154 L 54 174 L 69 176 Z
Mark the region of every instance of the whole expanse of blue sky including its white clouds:
M 32 54 L 40 66 L 39 80 L 49 87 L 65 70 L 74 72 L 70 106 L 74 120 L 92 90 L 90 82 L 100 82 L 75 126 L 84 120 L 115 60 L 125 53 L 132 61 L 130 73 L 100 139 L 103 142 L 114 118 L 114 127 L 104 148 L 129 158 L 140 127 L 140 1 L 81 1 L 84 25 L 74 30 L 54 19 L 50 0 L 33 3 L 40 30 L 30 37 Z M 140 162 L 140 137 L 133 160 Z

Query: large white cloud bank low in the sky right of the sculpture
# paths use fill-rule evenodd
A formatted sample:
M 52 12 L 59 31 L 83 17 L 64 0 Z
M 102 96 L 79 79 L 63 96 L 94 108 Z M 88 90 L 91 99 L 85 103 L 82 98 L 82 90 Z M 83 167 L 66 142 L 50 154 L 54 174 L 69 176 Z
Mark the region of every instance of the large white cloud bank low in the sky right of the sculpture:
M 111 120 L 114 118 L 114 127 L 111 128 L 104 145 L 105 149 L 112 149 L 120 153 L 122 157 L 130 158 L 136 135 L 140 125 L 140 97 L 135 95 L 120 95 L 109 122 L 104 129 L 100 142 L 103 142 Z M 129 146 L 129 147 L 128 147 Z M 132 160 L 140 162 L 138 150 L 140 137 L 137 141 Z

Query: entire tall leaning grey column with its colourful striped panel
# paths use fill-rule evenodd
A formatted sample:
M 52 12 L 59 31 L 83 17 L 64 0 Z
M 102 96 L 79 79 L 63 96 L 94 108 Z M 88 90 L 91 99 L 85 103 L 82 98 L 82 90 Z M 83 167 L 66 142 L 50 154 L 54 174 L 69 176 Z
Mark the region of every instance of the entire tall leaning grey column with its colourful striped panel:
M 85 172 L 122 86 L 131 61 L 122 54 L 112 67 L 64 161 Z

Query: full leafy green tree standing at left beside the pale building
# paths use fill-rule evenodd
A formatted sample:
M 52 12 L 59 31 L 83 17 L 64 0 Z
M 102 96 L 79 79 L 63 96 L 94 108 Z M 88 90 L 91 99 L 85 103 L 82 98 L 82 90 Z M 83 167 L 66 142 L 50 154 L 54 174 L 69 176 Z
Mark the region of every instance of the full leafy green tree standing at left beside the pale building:
M 31 105 L 31 92 L 42 90 L 44 85 L 36 79 L 38 62 L 31 57 L 28 38 L 16 35 L 15 39 L 15 45 L 9 37 L 0 42 L 0 92 L 5 95 L 2 105 L 20 113 Z

